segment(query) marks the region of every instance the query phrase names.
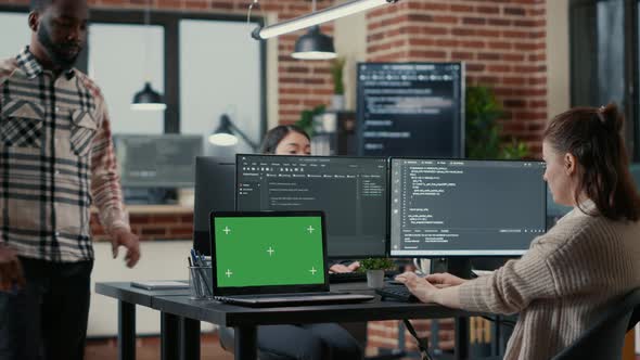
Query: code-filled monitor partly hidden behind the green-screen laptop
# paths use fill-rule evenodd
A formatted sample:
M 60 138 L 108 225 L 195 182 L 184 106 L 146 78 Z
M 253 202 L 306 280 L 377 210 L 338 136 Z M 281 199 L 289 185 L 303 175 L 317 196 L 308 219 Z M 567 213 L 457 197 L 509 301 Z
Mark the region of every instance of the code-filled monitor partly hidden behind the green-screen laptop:
M 385 256 L 386 158 L 238 155 L 236 179 L 238 210 L 322 210 L 329 257 Z

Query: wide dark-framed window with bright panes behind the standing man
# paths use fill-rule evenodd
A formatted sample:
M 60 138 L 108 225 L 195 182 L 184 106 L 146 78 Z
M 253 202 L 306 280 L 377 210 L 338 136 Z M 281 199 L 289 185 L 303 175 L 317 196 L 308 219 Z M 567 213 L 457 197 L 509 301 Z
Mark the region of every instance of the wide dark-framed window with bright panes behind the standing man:
M 27 14 L 26 7 L 0 5 L 0 59 L 15 56 L 29 43 Z M 139 10 L 92 10 L 87 50 L 78 59 L 77 67 L 103 90 L 113 132 L 183 132 L 206 139 L 225 113 L 259 142 L 266 130 L 266 47 L 251 31 L 260 22 L 152 12 L 146 26 L 143 15 Z M 146 78 L 164 94 L 164 113 L 130 110 Z M 205 145 L 207 153 L 216 153 Z M 233 151 L 251 149 L 242 143 Z

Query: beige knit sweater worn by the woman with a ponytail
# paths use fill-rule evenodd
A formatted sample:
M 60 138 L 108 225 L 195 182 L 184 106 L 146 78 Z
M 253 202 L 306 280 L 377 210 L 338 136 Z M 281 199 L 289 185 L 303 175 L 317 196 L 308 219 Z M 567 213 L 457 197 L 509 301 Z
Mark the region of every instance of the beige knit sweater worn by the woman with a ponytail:
M 588 202 L 587 208 L 594 208 Z M 550 359 L 640 286 L 640 222 L 575 208 L 519 260 L 459 287 L 462 308 L 520 312 L 504 359 Z

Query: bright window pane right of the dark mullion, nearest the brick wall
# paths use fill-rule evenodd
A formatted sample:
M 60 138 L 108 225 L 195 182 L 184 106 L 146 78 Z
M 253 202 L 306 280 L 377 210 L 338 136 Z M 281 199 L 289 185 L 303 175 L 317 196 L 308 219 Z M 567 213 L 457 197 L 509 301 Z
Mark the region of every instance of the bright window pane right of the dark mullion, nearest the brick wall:
M 203 20 L 180 21 L 180 132 L 203 134 L 205 153 L 252 153 L 239 141 L 235 149 L 208 143 L 222 114 L 254 142 L 260 124 L 260 42 L 249 34 L 256 24 Z

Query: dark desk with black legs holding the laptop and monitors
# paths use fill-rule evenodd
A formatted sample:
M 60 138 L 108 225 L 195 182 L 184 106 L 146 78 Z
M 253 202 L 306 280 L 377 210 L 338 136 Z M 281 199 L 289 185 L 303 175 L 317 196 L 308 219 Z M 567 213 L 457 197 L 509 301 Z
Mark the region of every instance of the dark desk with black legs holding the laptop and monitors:
M 372 294 L 366 284 L 345 283 L 332 291 Z M 441 319 L 474 316 L 431 304 L 407 304 L 375 300 L 353 305 L 319 305 L 278 308 L 248 308 L 214 300 L 192 300 L 184 291 L 145 291 L 129 283 L 98 283 L 98 294 L 118 299 L 118 347 L 120 360 L 135 359 L 135 306 L 142 305 L 161 311 L 162 358 L 199 359 L 200 321 L 235 329 L 235 359 L 257 359 L 258 325 L 323 322 L 358 322 L 395 319 Z M 124 304 L 126 303 L 126 305 Z M 180 346 L 182 343 L 182 346 Z M 466 351 L 457 358 L 466 356 Z M 131 356 L 132 355 L 132 356 Z

